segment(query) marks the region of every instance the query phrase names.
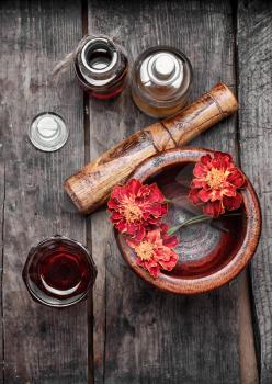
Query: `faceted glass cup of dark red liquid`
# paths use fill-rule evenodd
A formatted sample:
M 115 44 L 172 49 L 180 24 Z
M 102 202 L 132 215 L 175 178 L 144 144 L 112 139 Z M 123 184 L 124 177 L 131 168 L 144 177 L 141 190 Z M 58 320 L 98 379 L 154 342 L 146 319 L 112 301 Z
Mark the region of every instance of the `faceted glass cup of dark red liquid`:
M 68 307 L 87 298 L 95 276 L 97 268 L 88 249 L 59 235 L 32 248 L 23 269 L 31 296 L 52 307 Z

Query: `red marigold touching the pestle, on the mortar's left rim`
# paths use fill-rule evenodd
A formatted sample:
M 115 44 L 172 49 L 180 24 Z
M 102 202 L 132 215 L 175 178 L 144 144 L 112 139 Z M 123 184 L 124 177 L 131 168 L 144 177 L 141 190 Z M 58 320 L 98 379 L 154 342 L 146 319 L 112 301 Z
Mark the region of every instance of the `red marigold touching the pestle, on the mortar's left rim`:
M 160 225 L 167 214 L 166 199 L 157 184 L 143 185 L 136 179 L 116 185 L 107 207 L 115 228 L 137 240 L 144 238 L 148 225 Z

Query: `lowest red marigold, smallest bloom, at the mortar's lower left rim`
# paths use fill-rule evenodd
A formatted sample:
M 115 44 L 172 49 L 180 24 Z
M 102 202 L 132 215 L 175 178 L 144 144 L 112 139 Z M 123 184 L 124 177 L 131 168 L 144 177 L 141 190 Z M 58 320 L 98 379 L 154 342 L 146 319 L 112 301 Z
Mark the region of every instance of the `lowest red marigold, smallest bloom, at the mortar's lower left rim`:
M 149 230 L 140 241 L 126 242 L 137 256 L 137 263 L 146 269 L 154 278 L 158 278 L 160 270 L 171 271 L 177 262 L 178 255 L 172 250 L 178 244 L 175 236 L 167 235 L 168 227 L 162 224 L 159 228 Z

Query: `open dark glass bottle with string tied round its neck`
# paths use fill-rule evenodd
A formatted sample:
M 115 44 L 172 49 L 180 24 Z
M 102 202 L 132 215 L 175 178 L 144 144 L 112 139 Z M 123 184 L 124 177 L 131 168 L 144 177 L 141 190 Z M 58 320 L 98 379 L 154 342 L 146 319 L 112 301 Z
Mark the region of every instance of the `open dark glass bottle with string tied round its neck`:
M 109 37 L 90 37 L 77 52 L 75 70 L 80 84 L 91 97 L 111 99 L 123 91 L 127 57 Z

